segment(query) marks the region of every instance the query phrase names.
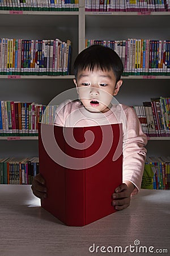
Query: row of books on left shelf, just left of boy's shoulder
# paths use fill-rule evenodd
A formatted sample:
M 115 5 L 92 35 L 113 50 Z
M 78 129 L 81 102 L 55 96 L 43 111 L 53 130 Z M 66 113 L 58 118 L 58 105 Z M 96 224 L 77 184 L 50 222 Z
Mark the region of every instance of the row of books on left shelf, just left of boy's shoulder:
M 38 135 L 38 123 L 54 123 L 57 105 L 0 101 L 0 137 Z

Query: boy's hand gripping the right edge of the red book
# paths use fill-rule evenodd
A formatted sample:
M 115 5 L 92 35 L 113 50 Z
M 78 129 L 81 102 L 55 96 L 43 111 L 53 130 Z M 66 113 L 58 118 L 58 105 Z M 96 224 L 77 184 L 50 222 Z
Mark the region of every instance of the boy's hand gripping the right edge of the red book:
M 134 188 L 134 184 L 129 181 L 127 184 L 122 183 L 115 189 L 115 192 L 112 195 L 112 205 L 116 210 L 123 210 L 129 207 L 131 192 L 133 192 Z

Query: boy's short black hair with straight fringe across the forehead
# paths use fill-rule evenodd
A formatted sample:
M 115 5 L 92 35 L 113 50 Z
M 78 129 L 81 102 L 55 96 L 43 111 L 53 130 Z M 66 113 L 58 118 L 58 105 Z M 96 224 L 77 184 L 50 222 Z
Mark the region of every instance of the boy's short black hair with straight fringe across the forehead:
M 116 82 L 121 79 L 124 66 L 117 53 L 105 46 L 94 44 L 82 52 L 76 57 L 74 61 L 74 75 L 75 79 L 79 71 L 83 71 L 86 68 L 93 71 L 94 68 L 101 69 L 102 71 L 112 70 L 116 76 Z

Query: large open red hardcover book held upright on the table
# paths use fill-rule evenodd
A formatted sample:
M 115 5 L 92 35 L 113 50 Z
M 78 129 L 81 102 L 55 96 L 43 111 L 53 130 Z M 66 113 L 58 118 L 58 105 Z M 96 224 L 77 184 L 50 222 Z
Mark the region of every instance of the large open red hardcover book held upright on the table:
M 41 206 L 63 223 L 84 226 L 112 214 L 112 193 L 122 183 L 122 125 L 39 124 L 39 164 L 48 190 Z

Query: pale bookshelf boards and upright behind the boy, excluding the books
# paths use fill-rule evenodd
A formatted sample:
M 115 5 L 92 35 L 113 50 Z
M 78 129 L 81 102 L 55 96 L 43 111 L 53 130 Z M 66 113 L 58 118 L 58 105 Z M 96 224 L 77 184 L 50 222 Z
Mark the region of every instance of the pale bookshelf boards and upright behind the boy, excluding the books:
M 0 100 L 48 104 L 54 96 L 74 88 L 73 61 L 85 47 L 85 39 L 127 40 L 128 38 L 169 40 L 169 12 L 87 12 L 85 1 L 79 0 L 79 11 L 0 11 L 1 38 L 70 39 L 73 47 L 69 76 L 0 76 Z M 169 96 L 170 76 L 127 76 L 117 100 L 126 105 L 142 105 L 151 97 Z M 0 138 L 0 154 L 6 156 L 37 155 L 37 137 L 20 137 L 8 141 Z M 10 147 L 10 151 L 8 150 Z M 23 150 L 24 148 L 24 150 Z M 167 155 L 169 138 L 149 138 L 148 154 Z M 13 150 L 13 151 L 12 151 Z

